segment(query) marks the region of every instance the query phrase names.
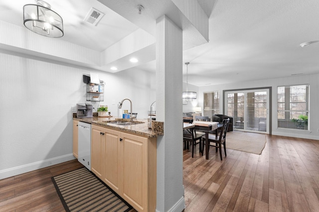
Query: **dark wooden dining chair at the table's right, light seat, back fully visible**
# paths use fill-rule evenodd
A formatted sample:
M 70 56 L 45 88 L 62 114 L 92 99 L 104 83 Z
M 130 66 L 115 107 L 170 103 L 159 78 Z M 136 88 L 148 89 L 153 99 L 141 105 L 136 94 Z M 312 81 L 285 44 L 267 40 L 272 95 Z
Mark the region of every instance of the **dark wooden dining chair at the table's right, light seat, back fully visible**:
M 209 146 L 214 146 L 216 147 L 216 152 L 219 149 L 219 154 L 220 154 L 220 160 L 223 160 L 222 154 L 221 154 L 221 145 L 223 144 L 224 146 L 224 152 L 225 152 L 225 157 L 227 156 L 226 154 L 226 133 L 227 133 L 227 129 L 228 129 L 228 125 L 229 125 L 229 119 L 224 119 L 223 120 L 223 126 L 221 127 L 219 136 L 215 136 L 213 134 L 208 134 L 208 142 L 209 142 Z M 203 155 L 204 152 L 204 147 L 205 147 L 205 141 L 206 141 L 206 136 L 202 137 L 202 151 L 201 154 Z M 214 143 L 214 144 L 212 144 Z M 209 149 L 208 149 L 209 151 Z

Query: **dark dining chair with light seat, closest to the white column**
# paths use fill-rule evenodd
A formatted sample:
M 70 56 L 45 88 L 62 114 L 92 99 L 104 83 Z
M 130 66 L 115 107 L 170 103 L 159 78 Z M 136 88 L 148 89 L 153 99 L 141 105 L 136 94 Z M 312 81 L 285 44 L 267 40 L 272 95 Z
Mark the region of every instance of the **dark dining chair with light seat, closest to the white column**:
M 184 148 L 189 149 L 188 143 L 191 142 L 191 157 L 194 157 L 194 147 L 199 144 L 199 153 L 201 152 L 201 143 L 202 143 L 202 136 L 204 136 L 205 133 L 201 132 L 195 132 L 193 128 L 183 130 L 183 142 L 184 142 Z M 196 142 L 198 141 L 198 142 Z

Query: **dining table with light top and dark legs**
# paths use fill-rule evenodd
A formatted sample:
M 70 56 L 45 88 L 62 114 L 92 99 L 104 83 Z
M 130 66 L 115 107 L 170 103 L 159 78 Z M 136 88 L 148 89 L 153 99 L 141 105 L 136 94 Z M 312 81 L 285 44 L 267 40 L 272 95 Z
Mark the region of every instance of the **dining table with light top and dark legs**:
M 205 141 L 205 154 L 206 160 L 208 160 L 208 134 L 210 131 L 217 130 L 219 122 L 205 122 L 205 121 L 193 121 L 193 123 L 183 122 L 183 129 L 194 128 L 194 130 L 205 133 L 206 141 Z M 217 135 L 217 134 L 216 134 Z

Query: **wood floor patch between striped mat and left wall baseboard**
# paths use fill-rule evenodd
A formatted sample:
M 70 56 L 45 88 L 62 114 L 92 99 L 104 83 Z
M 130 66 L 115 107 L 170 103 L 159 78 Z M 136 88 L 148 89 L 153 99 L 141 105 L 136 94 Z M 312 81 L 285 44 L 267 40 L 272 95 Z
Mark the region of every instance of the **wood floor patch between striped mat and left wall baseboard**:
M 72 160 L 0 180 L 0 212 L 64 212 L 51 177 L 80 167 Z

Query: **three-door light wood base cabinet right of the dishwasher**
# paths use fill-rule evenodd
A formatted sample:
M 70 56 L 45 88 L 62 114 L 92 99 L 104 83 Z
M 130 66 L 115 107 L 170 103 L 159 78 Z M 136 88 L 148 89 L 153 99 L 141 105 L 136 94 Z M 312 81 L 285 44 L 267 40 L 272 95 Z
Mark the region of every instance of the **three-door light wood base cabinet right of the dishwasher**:
M 92 125 L 92 172 L 139 212 L 156 209 L 156 142 Z

